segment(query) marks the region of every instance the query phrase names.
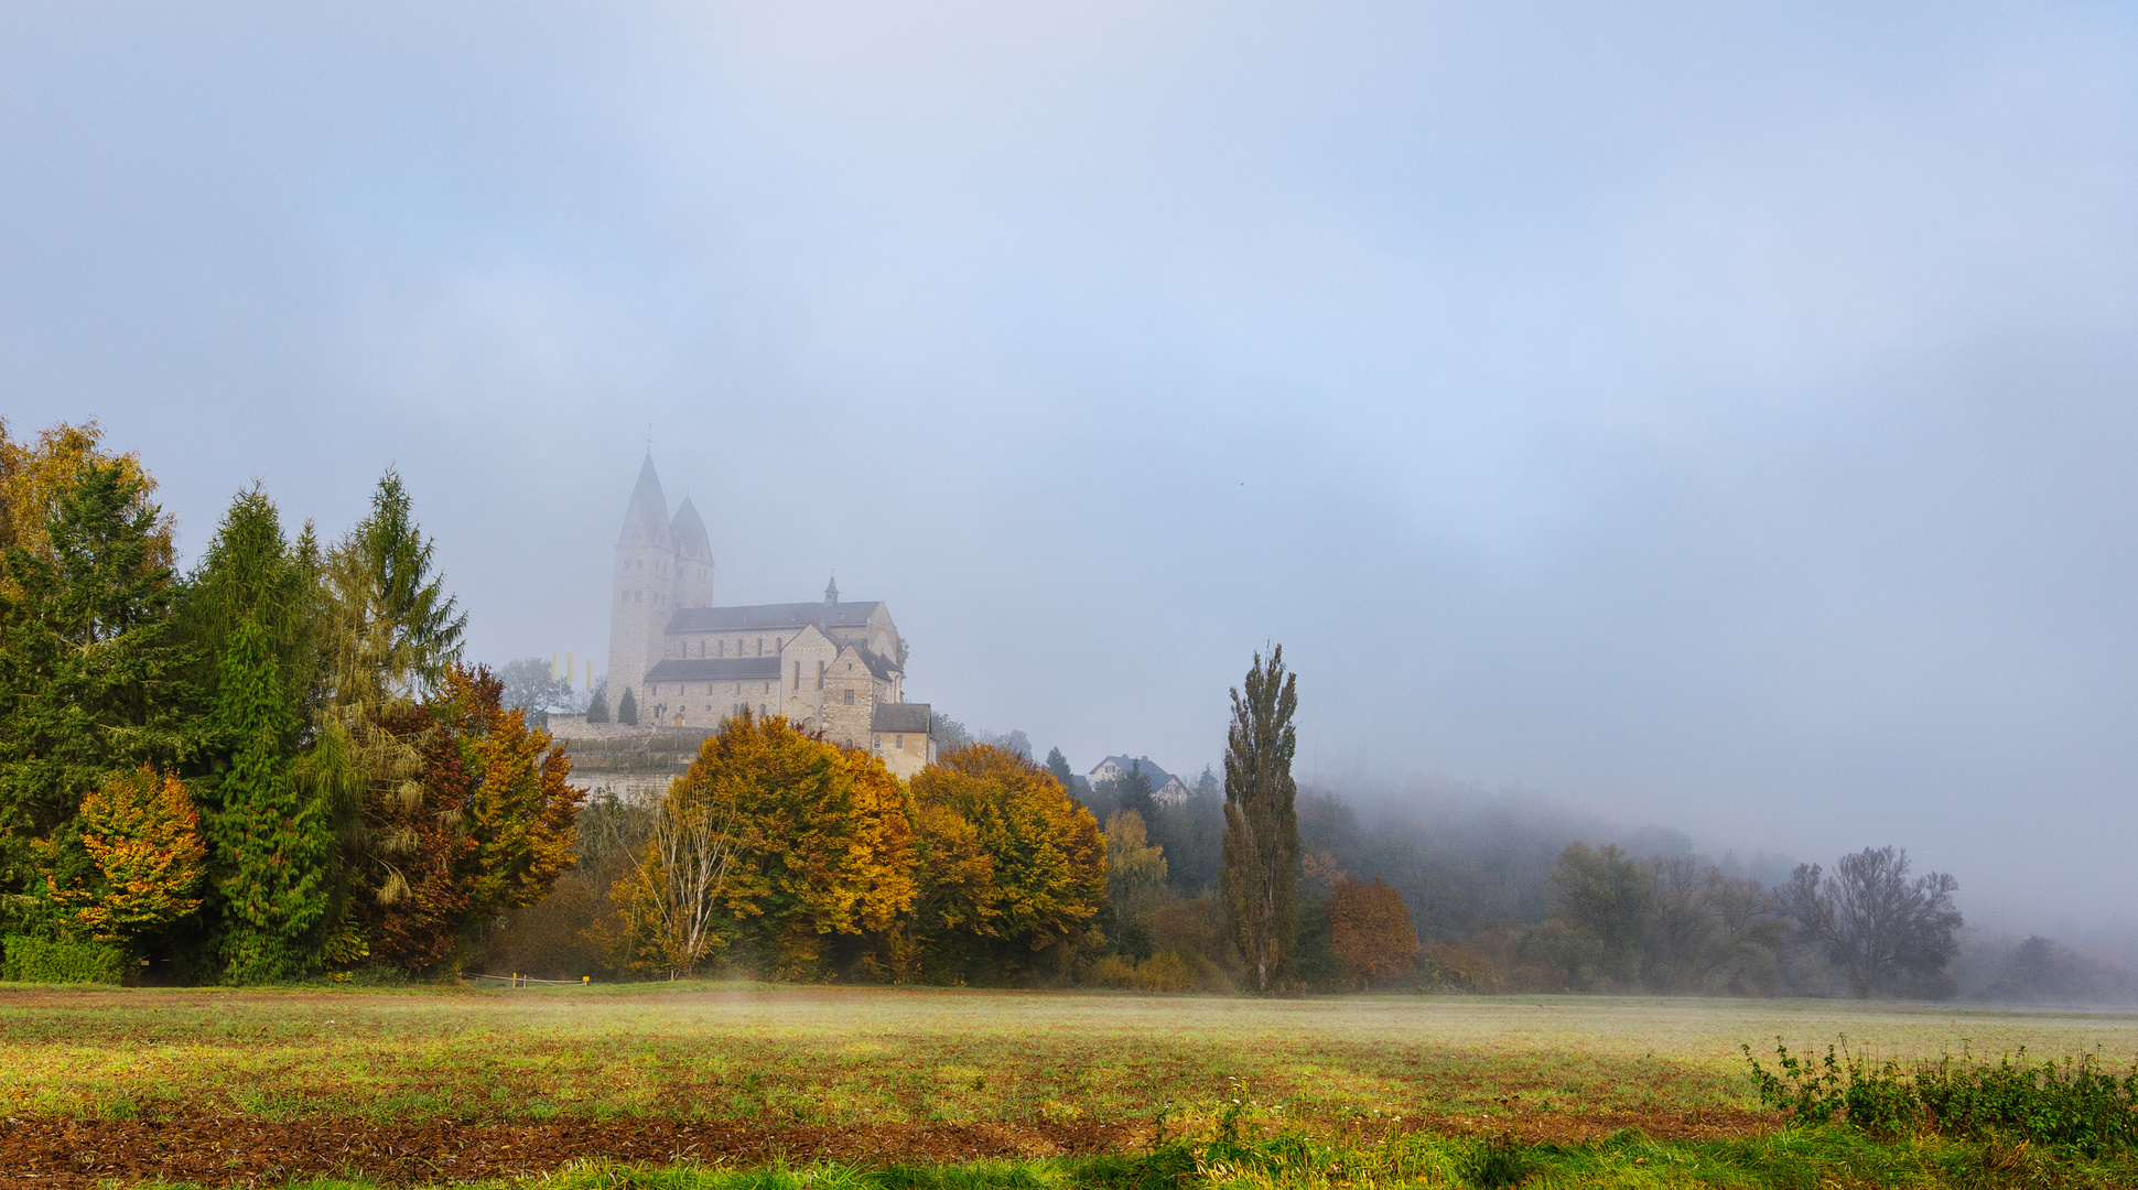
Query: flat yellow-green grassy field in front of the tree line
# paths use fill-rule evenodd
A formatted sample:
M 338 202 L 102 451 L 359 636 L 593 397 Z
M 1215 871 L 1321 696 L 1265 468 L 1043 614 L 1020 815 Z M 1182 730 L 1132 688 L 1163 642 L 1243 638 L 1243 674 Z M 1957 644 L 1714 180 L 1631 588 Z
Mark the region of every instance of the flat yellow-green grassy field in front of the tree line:
M 744 1137 L 789 1137 L 800 1156 L 881 1164 L 1146 1152 L 1161 1128 L 1208 1132 L 1240 1100 L 1257 1134 L 1315 1134 L 1347 1152 L 1422 1128 L 1458 1147 L 1512 1137 L 1601 1154 L 1636 1137 L 1693 1154 L 1783 1143 L 1766 1137 L 1777 1117 L 1757 1111 L 1738 1051 L 1764 1055 L 1777 1036 L 1798 1051 L 1847 1036 L 1896 1058 L 2025 1047 L 2097 1051 L 2119 1068 L 2138 1060 L 2138 1015 L 1956 1004 L 761 985 L 0 989 L 0 1113 L 17 1139 L 77 1128 L 77 1145 L 83 1126 L 139 1147 L 171 1137 L 141 1130 L 158 1122 L 192 1134 L 214 1119 L 282 1145 L 316 1147 L 319 1134 L 363 1124 L 381 1152 L 438 1145 L 438 1128 L 451 1128 L 464 1147 L 547 1143 L 549 1156 L 569 1156 L 556 1137 L 656 1147 L 703 1126 L 714 1128 L 703 1137 L 735 1139 L 742 1147 L 723 1152 L 738 1160 L 787 1152 L 750 1149 Z

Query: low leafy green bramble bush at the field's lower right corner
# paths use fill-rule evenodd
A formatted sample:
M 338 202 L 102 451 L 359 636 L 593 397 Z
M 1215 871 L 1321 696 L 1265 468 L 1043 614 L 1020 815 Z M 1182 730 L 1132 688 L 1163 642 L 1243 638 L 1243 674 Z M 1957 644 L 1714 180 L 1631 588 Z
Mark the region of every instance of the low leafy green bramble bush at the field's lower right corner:
M 2091 1053 L 2031 1064 L 2020 1049 L 1995 1066 L 1948 1053 L 1903 1068 L 1890 1058 L 1873 1064 L 1849 1053 L 1847 1038 L 1826 1047 L 1824 1060 L 1798 1058 L 1777 1038 L 1777 1072 L 1749 1045 L 1742 1049 L 1760 1102 L 1787 1111 L 1796 1126 L 1843 1122 L 1873 1137 L 2008 1137 L 2087 1154 L 2138 1147 L 2138 1066 L 2117 1077 Z

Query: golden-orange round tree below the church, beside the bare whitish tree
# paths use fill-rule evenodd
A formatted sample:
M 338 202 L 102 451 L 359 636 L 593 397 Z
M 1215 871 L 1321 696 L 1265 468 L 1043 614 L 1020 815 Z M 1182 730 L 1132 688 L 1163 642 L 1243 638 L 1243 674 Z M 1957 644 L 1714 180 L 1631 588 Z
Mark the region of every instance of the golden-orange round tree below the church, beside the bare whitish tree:
M 733 840 L 721 906 L 763 972 L 825 974 L 825 944 L 881 934 L 913 904 L 913 823 L 883 761 L 748 711 L 676 778 Z

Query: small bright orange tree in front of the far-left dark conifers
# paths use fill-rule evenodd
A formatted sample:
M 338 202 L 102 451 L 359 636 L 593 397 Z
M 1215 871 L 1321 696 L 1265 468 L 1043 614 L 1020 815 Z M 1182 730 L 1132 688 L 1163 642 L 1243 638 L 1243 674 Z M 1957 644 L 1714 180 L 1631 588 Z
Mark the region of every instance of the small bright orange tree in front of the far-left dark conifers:
M 133 942 L 201 908 L 207 846 L 177 778 L 145 765 L 118 773 L 81 799 L 75 823 L 96 878 L 66 889 L 47 878 L 47 889 L 90 934 Z

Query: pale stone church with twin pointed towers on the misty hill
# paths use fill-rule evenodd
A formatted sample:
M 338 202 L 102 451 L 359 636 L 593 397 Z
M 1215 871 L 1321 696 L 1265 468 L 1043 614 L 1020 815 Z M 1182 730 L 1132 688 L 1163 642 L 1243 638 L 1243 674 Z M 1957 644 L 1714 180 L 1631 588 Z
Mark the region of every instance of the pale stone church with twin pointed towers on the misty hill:
M 684 498 L 669 517 L 654 457 L 616 538 L 609 707 L 633 692 L 641 724 L 716 729 L 748 707 L 883 756 L 900 778 L 934 761 L 928 703 L 904 701 L 907 641 L 877 600 L 712 605 L 712 541 Z

